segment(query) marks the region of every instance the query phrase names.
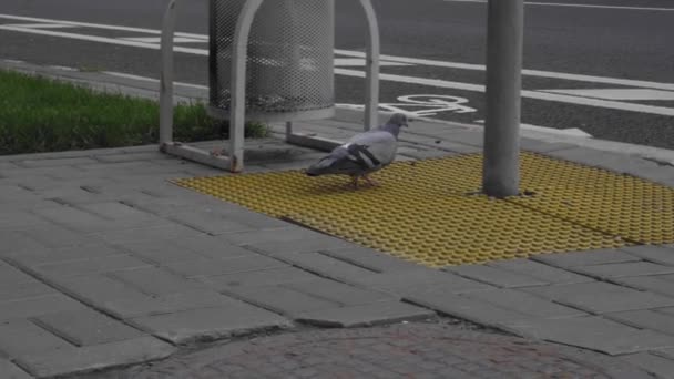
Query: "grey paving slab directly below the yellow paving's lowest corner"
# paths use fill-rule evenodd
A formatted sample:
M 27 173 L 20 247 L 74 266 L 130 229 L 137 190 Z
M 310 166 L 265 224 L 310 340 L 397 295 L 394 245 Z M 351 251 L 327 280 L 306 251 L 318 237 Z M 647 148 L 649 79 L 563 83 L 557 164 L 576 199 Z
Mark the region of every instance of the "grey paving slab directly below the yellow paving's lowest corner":
M 381 289 L 398 295 L 426 293 L 436 289 L 449 294 L 462 294 L 497 288 L 488 284 L 460 277 L 456 274 L 437 272 L 429 268 L 361 276 L 353 281 L 368 288 Z

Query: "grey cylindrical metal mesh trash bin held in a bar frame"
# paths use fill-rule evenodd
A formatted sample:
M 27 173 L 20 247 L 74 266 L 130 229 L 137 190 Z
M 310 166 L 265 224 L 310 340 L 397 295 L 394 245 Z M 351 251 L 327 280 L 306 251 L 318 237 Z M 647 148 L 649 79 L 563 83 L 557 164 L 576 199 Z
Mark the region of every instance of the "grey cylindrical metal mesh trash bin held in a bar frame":
M 211 0 L 212 115 L 229 119 L 236 22 L 246 0 Z M 330 117 L 335 110 L 334 0 L 268 0 L 247 41 L 246 120 Z

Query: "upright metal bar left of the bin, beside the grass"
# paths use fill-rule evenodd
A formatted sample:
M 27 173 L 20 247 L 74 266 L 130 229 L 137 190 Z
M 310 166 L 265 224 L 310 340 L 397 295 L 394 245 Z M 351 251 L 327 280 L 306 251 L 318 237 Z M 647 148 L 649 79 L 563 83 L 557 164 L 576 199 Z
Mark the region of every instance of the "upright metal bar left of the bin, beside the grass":
M 160 148 L 173 142 L 173 34 L 177 0 L 170 0 L 162 21 L 160 73 Z

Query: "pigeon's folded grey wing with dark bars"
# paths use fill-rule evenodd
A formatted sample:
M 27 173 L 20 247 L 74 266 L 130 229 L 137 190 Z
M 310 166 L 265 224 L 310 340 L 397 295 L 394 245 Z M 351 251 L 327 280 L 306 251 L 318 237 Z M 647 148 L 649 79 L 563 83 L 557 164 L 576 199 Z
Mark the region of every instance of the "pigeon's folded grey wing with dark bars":
M 396 139 L 388 132 L 361 133 L 312 165 L 307 174 L 359 175 L 376 171 L 394 161 L 397 146 Z

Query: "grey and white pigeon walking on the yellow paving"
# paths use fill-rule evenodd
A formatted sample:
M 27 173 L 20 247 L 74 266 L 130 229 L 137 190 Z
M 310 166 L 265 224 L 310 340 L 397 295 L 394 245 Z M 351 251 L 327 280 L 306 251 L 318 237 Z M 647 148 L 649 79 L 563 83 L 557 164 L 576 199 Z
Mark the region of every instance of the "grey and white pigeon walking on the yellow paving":
M 395 113 L 386 124 L 356 134 L 345 144 L 335 147 L 327 156 L 310 165 L 307 175 L 349 175 L 355 188 L 358 188 L 360 177 L 368 184 L 376 185 L 368 175 L 394 162 L 398 134 L 401 126 L 408 126 L 407 122 L 407 115 Z

